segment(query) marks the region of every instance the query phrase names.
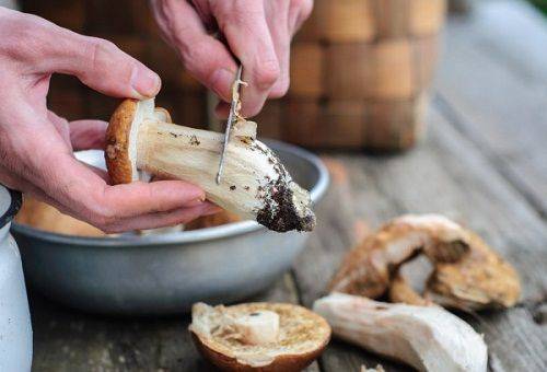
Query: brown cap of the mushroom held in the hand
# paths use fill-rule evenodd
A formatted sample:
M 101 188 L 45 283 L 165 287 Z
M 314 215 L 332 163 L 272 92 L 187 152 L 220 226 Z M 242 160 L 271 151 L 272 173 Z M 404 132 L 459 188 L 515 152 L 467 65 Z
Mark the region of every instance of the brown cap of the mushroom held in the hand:
M 147 179 L 137 170 L 137 135 L 146 118 L 167 118 L 164 108 L 154 111 L 154 100 L 125 100 L 116 108 L 106 129 L 105 161 L 108 175 L 115 185 Z

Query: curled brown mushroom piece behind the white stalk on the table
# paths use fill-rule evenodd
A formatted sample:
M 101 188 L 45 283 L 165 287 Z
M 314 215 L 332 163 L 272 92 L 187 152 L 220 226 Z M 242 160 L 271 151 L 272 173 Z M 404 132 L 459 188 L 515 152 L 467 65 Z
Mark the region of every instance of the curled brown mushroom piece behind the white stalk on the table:
M 419 294 L 400 275 L 418 255 L 433 264 Z M 440 214 L 407 214 L 384 224 L 346 256 L 330 290 L 392 301 L 431 301 L 464 311 L 510 307 L 520 297 L 515 270 L 479 236 Z

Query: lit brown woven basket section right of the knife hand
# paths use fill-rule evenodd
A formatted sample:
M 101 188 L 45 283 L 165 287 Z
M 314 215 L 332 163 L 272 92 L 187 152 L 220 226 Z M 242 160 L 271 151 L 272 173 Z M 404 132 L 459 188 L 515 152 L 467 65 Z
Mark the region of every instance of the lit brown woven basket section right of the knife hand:
M 287 98 L 260 135 L 312 148 L 400 150 L 423 128 L 444 0 L 316 0 L 296 35 Z

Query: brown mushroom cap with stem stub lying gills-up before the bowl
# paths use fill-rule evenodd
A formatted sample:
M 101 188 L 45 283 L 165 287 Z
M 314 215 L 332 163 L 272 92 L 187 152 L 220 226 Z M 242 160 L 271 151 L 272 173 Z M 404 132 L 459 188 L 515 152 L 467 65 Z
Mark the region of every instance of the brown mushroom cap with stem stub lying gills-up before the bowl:
M 301 371 L 330 339 L 323 317 L 288 303 L 197 303 L 189 330 L 199 352 L 224 371 Z

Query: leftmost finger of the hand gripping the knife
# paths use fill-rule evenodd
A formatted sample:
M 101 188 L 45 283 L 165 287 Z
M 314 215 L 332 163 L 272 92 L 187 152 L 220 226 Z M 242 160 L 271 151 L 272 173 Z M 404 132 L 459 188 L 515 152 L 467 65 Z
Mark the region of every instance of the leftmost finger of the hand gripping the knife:
M 220 98 L 230 101 L 237 66 L 226 46 L 207 33 L 201 19 L 187 1 L 162 1 L 155 16 L 175 46 L 185 68 Z M 175 14 L 176 16 L 173 16 Z M 166 25 L 165 25 L 166 24 Z

